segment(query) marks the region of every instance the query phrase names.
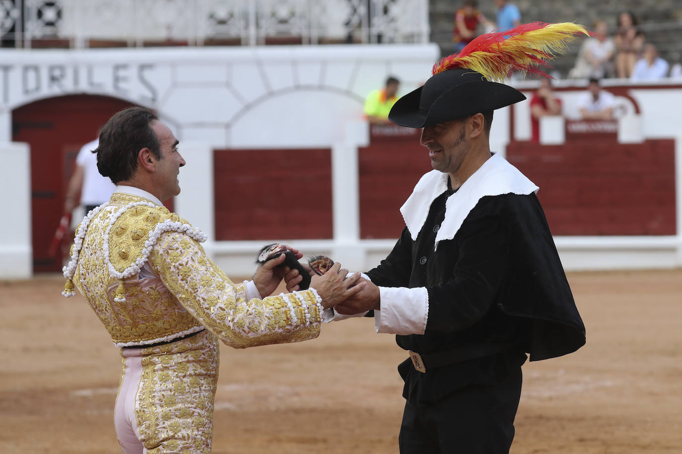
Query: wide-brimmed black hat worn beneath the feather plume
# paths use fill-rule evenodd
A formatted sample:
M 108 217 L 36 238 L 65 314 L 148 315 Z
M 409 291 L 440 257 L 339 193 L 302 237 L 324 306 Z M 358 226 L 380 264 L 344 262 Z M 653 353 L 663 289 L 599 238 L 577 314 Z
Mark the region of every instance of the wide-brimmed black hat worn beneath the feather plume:
M 432 76 L 424 86 L 398 99 L 388 119 L 396 125 L 423 128 L 490 112 L 524 99 L 516 88 L 490 82 L 472 69 L 454 68 Z

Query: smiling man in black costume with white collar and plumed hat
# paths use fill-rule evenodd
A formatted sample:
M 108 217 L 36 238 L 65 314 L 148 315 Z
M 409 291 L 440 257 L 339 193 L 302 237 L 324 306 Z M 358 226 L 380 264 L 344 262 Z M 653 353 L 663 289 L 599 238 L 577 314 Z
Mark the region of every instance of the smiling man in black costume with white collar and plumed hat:
M 396 334 L 409 351 L 398 366 L 402 454 L 508 453 L 526 353 L 558 357 L 585 342 L 538 188 L 490 152 L 492 111 L 525 97 L 472 67 L 490 65 L 444 59 L 391 110 L 392 122 L 423 128 L 434 170 L 400 209 L 406 227 L 366 273 L 366 289 L 330 314 L 373 311 L 377 332 Z M 290 290 L 295 276 L 286 276 Z

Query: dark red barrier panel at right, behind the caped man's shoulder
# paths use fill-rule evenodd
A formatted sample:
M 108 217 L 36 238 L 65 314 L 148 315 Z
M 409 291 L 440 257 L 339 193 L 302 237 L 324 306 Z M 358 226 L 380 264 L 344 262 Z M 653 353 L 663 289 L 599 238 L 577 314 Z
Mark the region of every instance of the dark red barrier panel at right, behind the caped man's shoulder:
M 674 140 L 512 142 L 507 160 L 540 187 L 554 235 L 674 235 Z

